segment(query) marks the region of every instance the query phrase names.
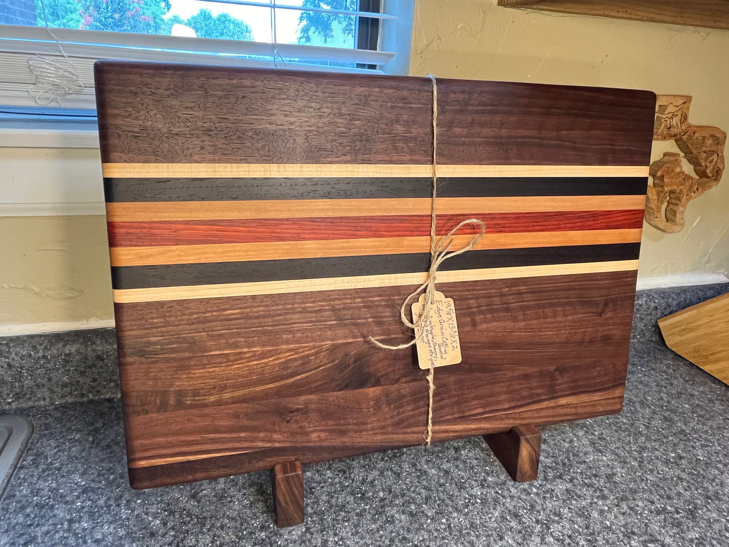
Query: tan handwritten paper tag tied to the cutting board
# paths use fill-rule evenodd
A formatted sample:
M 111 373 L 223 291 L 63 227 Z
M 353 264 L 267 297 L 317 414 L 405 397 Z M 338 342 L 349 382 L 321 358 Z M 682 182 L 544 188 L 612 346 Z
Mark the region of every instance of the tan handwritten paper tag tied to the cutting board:
M 418 322 L 424 308 L 425 295 L 421 295 L 412 306 L 414 323 Z M 423 370 L 461 362 L 456 307 L 453 298 L 445 298 L 443 292 L 435 291 L 435 302 L 421 326 L 416 328 L 415 335 L 418 365 Z

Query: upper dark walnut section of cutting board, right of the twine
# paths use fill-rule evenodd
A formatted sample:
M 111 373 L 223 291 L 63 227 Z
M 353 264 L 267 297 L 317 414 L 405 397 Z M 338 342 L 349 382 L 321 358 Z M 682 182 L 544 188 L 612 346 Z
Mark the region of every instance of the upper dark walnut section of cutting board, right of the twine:
M 440 165 L 645 166 L 650 157 L 650 91 L 461 79 L 437 85 Z

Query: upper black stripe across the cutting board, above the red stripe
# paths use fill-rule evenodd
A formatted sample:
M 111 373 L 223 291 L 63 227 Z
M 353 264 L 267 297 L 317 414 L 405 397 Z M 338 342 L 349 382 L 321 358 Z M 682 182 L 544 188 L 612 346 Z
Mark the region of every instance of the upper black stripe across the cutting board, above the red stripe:
M 443 198 L 522 195 L 644 195 L 642 176 L 594 177 L 440 177 Z M 237 179 L 104 179 L 109 202 L 257 201 L 280 199 L 429 198 L 432 179 L 237 178 Z

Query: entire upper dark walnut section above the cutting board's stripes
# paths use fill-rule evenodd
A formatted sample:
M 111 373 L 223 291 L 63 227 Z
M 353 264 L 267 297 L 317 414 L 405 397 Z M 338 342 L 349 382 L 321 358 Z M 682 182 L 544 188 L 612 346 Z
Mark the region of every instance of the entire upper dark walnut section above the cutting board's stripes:
M 432 163 L 428 78 L 104 61 L 94 79 L 104 163 Z M 437 85 L 439 164 L 646 166 L 650 157 L 655 93 Z

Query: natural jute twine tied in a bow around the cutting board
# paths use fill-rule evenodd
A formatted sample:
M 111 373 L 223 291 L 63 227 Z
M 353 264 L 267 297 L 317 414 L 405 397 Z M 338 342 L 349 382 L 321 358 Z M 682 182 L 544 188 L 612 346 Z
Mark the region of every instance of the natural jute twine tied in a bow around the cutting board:
M 473 247 L 476 246 L 476 244 L 483 238 L 483 234 L 486 233 L 486 225 L 481 222 L 478 219 L 475 218 L 469 218 L 468 220 L 464 220 L 463 222 L 459 222 L 459 225 L 456 226 L 456 228 L 453 228 L 448 234 L 443 237 L 440 240 L 440 243 L 437 241 L 437 234 L 435 233 L 436 228 L 436 198 L 437 198 L 437 191 L 438 191 L 438 177 L 437 177 L 437 143 L 438 143 L 438 88 L 435 82 L 435 77 L 430 76 L 430 80 L 432 82 L 432 97 L 433 97 L 433 161 L 432 161 L 432 182 L 433 182 L 433 193 L 432 193 L 432 199 L 431 199 L 431 209 L 430 209 L 430 268 L 428 268 L 428 273 L 426 276 L 426 280 L 423 284 L 421 284 L 420 287 L 418 287 L 413 292 L 410 292 L 410 295 L 408 295 L 408 298 L 405 298 L 405 301 L 402 303 L 402 306 L 400 306 L 400 320 L 402 321 L 402 324 L 406 327 L 409 327 L 413 330 L 415 330 L 416 335 L 413 336 L 413 339 L 405 344 L 399 344 L 397 346 L 389 346 L 388 344 L 383 344 L 380 341 L 375 340 L 372 336 L 370 336 L 370 341 L 375 344 L 375 346 L 378 346 L 382 349 L 405 349 L 409 348 L 413 344 L 416 344 L 418 341 L 418 336 L 422 337 L 424 334 L 425 329 L 422 329 L 420 333 L 418 334 L 418 328 L 423 325 L 424 321 L 426 321 L 432 307 L 435 304 L 435 283 L 437 279 L 437 271 L 438 267 L 443 264 L 445 260 L 448 260 L 448 258 L 454 257 L 456 255 L 461 255 L 461 253 L 464 253 L 466 251 L 469 251 L 470 249 L 473 249 Z M 464 247 L 461 247 L 461 249 L 458 249 L 456 251 L 451 251 L 451 247 L 453 246 L 453 236 L 455 233 L 463 228 L 465 225 L 477 225 L 480 228 L 480 232 L 477 233 L 471 241 L 468 242 Z M 413 321 L 410 321 L 408 318 L 408 307 L 410 306 L 410 302 L 416 298 L 421 292 L 424 292 L 425 294 L 425 302 L 423 307 L 423 312 L 421 313 L 420 317 L 418 319 L 415 319 Z M 413 318 L 414 319 L 414 318 Z M 425 444 L 427 446 L 430 446 L 430 441 L 433 437 L 433 392 L 435 391 L 435 381 L 434 381 L 434 367 L 431 363 L 430 368 L 428 370 L 428 425 L 426 428 L 426 432 L 423 435 L 423 438 L 425 439 Z

